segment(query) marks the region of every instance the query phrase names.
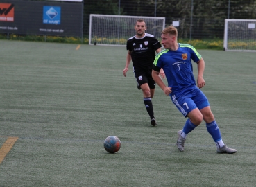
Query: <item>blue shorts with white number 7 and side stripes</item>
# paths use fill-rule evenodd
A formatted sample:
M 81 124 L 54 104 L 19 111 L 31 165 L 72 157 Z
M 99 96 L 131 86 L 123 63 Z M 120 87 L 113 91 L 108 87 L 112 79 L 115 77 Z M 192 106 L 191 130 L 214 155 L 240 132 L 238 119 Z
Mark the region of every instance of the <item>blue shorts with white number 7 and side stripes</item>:
M 189 91 L 185 96 L 176 98 L 175 95 L 172 95 L 171 100 L 185 117 L 187 117 L 187 114 L 189 114 L 193 109 L 198 108 L 200 110 L 204 107 L 210 106 L 207 97 L 203 94 L 203 91 L 200 91 L 197 87 L 192 91 Z

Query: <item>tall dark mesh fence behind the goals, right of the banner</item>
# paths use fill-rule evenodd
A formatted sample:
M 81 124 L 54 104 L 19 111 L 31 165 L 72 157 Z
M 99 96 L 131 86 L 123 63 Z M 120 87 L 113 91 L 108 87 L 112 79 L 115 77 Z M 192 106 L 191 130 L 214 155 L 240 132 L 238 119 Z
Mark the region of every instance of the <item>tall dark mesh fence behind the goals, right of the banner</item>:
M 166 26 L 178 24 L 179 37 L 222 38 L 225 19 L 256 19 L 256 0 L 141 0 L 85 1 L 84 34 L 89 14 L 165 17 Z

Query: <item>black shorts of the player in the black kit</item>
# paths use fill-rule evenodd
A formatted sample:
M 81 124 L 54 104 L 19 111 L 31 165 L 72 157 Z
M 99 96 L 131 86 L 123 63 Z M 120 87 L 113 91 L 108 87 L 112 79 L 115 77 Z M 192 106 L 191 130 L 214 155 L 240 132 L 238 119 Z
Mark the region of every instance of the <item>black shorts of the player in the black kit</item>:
M 138 89 L 140 89 L 140 86 L 145 83 L 148 84 L 150 89 L 155 89 L 155 81 L 152 78 L 152 69 L 148 69 L 148 71 L 145 71 L 133 67 L 133 73 L 137 81 Z

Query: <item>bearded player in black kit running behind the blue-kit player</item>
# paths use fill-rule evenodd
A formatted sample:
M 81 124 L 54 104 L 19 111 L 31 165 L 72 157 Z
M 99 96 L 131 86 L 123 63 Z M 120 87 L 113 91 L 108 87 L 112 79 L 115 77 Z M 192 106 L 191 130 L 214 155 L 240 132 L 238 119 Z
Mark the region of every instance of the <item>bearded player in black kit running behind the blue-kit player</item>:
M 133 73 L 137 80 L 137 88 L 142 89 L 144 105 L 151 118 L 151 125 L 157 125 L 151 98 L 155 93 L 155 81 L 152 78 L 153 62 L 155 52 L 160 53 L 161 44 L 153 36 L 145 33 L 146 23 L 143 19 L 138 19 L 135 24 L 136 35 L 127 40 L 126 66 L 123 75 L 126 77 L 130 61 L 133 61 Z M 165 78 L 164 71 L 161 69 L 160 75 Z

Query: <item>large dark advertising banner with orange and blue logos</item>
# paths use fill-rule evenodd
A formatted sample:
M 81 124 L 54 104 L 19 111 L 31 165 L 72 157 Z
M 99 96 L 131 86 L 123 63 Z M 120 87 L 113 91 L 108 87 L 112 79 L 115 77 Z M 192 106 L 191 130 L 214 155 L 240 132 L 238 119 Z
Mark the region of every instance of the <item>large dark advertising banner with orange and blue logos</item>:
M 83 37 L 83 3 L 52 0 L 4 2 L 0 0 L 0 34 Z M 3 15 L 8 21 L 1 21 Z

